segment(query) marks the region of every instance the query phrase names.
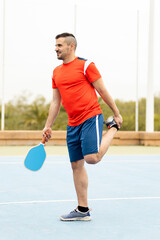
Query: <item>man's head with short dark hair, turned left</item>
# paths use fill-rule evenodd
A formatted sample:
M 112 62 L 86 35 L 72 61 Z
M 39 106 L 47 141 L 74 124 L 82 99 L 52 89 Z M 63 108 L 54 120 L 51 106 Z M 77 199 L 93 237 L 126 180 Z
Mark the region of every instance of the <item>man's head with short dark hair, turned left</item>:
M 57 58 L 65 60 L 75 53 L 77 47 L 77 40 L 71 33 L 58 34 L 56 37 L 56 48 Z

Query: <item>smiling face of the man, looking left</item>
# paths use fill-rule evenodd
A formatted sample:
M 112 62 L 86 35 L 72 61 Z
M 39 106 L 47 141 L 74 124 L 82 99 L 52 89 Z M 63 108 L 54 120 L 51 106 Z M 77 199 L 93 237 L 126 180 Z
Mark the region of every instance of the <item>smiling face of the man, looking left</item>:
M 65 38 L 56 39 L 55 51 L 59 60 L 65 60 L 70 55 L 70 50 L 71 47 L 70 45 L 67 45 Z

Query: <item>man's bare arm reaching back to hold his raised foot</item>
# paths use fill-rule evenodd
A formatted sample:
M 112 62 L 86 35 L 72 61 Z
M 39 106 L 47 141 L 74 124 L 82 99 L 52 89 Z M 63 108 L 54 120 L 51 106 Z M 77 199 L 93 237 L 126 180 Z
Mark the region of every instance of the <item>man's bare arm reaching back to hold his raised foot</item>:
M 99 93 L 99 95 L 102 97 L 102 99 L 104 100 L 104 102 L 110 107 L 110 109 L 113 111 L 114 113 L 114 119 L 118 125 L 118 127 L 120 128 L 123 122 L 122 116 L 119 113 L 119 110 L 114 102 L 114 100 L 112 99 L 111 95 L 109 94 L 109 92 L 107 91 L 104 82 L 102 80 L 102 78 L 96 80 L 95 82 L 92 83 L 93 87 L 97 90 L 97 92 Z

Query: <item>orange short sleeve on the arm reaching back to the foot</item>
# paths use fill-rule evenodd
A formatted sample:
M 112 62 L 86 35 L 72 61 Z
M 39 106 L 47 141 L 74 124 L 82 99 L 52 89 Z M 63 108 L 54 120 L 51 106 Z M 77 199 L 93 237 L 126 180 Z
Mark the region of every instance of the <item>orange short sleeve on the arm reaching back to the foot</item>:
M 90 83 L 101 78 L 101 74 L 93 62 L 90 62 L 85 70 L 85 76 Z

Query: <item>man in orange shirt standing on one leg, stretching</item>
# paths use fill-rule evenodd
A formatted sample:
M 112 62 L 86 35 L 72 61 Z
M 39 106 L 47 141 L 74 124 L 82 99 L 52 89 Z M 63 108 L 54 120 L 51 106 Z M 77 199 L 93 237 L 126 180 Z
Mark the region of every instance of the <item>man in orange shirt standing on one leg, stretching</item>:
M 48 140 L 62 102 L 68 114 L 67 146 L 78 200 L 78 207 L 61 216 L 62 221 L 91 220 L 87 202 L 88 177 L 84 162 L 98 163 L 122 124 L 119 110 L 98 69 L 93 62 L 75 56 L 76 46 L 77 41 L 73 34 L 62 33 L 56 36 L 55 51 L 57 58 L 63 63 L 53 71 L 53 99 L 43 129 L 43 135 Z M 114 114 L 114 117 L 105 121 L 109 130 L 103 137 L 103 114 L 95 90 Z

